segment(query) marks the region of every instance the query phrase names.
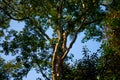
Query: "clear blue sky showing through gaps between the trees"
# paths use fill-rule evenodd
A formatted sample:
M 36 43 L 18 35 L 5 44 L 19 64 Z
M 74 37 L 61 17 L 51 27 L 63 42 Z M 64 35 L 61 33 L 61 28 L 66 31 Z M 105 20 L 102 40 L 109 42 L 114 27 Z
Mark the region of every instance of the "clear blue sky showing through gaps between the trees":
M 21 31 L 22 28 L 24 27 L 24 22 L 17 22 L 17 21 L 14 21 L 12 20 L 11 23 L 10 23 L 10 28 L 9 29 L 15 29 L 17 31 Z M 52 30 L 49 30 L 47 32 L 48 34 L 51 34 L 52 33 Z M 98 42 L 95 42 L 95 41 L 88 41 L 87 43 L 81 43 L 81 39 L 83 38 L 84 34 L 81 33 L 78 35 L 78 38 L 75 42 L 75 44 L 73 45 L 72 49 L 70 50 L 70 53 L 73 53 L 74 54 L 74 58 L 75 59 L 80 59 L 82 58 L 82 47 L 87 45 L 87 47 L 90 49 L 90 51 L 92 52 L 96 52 L 96 50 L 100 47 L 100 43 Z M 70 41 L 68 40 L 68 43 Z M 69 53 L 69 54 L 70 54 Z M 2 57 L 4 57 L 6 60 L 10 60 L 10 59 L 13 59 L 13 57 L 10 57 L 10 56 L 4 56 L 4 55 L 1 55 Z M 39 77 L 40 74 L 37 74 L 35 72 L 34 69 L 32 69 L 29 74 L 27 75 L 27 77 L 24 77 L 23 80 L 35 80 L 36 77 Z

